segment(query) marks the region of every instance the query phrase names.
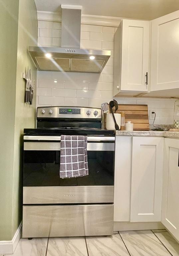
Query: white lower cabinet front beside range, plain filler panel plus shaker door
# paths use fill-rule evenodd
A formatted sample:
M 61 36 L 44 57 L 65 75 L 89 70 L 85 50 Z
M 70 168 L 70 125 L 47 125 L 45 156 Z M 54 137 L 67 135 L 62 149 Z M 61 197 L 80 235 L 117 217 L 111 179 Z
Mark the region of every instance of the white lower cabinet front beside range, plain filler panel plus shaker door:
M 161 221 L 164 138 L 116 136 L 114 221 Z

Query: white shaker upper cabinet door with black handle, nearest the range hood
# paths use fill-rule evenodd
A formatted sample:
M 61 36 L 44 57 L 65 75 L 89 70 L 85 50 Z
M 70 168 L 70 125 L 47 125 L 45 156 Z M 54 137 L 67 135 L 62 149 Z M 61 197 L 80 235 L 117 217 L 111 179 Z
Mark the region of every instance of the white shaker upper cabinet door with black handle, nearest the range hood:
M 148 91 L 149 21 L 122 20 L 121 91 Z

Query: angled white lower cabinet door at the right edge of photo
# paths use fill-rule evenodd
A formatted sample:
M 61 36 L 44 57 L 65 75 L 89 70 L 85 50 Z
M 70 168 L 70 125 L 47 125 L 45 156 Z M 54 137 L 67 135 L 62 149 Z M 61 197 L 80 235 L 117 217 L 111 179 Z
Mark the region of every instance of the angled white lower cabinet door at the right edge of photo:
M 179 241 L 179 140 L 164 141 L 161 222 Z

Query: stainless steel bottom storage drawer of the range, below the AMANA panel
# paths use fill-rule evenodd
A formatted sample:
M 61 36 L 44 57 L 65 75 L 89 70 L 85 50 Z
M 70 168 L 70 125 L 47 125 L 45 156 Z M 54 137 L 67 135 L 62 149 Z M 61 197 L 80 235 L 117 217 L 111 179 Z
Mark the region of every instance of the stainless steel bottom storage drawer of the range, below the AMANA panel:
M 23 238 L 112 234 L 113 204 L 23 206 Z

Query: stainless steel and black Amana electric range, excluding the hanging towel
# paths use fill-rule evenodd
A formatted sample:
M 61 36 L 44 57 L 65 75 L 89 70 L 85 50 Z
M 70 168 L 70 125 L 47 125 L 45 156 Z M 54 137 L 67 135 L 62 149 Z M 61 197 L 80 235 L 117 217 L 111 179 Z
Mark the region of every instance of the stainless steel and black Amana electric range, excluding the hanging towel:
M 24 133 L 22 237 L 111 235 L 115 133 L 101 129 L 101 109 L 38 107 Z M 88 176 L 60 178 L 62 134 L 88 136 Z

